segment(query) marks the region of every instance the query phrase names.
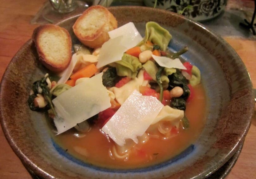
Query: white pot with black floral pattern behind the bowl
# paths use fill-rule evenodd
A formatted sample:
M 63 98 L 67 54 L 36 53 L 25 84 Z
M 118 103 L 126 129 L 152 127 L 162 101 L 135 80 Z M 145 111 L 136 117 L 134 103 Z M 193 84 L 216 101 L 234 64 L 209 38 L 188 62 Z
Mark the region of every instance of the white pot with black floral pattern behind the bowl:
M 144 0 L 146 6 L 153 7 L 154 0 Z M 227 0 L 157 0 L 157 8 L 170 10 L 195 21 L 207 21 L 225 10 Z

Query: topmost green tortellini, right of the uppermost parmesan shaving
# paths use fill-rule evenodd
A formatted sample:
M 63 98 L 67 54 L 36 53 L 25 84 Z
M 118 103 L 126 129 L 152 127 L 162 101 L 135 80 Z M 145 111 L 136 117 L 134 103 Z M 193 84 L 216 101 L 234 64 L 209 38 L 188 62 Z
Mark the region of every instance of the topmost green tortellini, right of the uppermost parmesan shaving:
M 155 45 L 159 45 L 161 50 L 165 51 L 171 38 L 172 36 L 168 30 L 162 28 L 158 23 L 146 23 L 144 42 L 153 42 Z

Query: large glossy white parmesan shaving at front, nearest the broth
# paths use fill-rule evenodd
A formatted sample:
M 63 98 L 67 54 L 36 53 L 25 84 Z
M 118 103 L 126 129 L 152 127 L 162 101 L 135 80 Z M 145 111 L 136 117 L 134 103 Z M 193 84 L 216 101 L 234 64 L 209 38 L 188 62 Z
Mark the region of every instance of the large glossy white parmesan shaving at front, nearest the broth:
M 138 143 L 137 136 L 144 134 L 162 108 L 163 104 L 156 97 L 142 96 L 134 90 L 102 131 L 120 146 L 125 144 L 125 139 Z

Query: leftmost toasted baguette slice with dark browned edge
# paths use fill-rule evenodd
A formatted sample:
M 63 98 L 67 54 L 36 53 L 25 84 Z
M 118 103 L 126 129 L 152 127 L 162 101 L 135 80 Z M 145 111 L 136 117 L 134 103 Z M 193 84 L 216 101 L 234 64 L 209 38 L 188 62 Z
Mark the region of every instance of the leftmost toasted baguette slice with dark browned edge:
M 72 58 L 71 37 L 68 31 L 57 25 L 46 24 L 33 32 L 33 41 L 42 64 L 53 72 L 67 68 Z

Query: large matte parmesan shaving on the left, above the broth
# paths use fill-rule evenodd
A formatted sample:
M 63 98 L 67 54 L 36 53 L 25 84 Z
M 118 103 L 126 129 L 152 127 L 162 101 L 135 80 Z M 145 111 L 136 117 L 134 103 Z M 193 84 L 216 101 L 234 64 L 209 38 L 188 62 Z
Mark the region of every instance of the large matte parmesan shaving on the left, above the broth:
M 58 134 L 111 106 L 102 74 L 82 81 L 52 100 L 58 114 L 54 118 Z

